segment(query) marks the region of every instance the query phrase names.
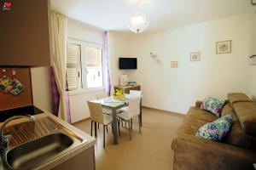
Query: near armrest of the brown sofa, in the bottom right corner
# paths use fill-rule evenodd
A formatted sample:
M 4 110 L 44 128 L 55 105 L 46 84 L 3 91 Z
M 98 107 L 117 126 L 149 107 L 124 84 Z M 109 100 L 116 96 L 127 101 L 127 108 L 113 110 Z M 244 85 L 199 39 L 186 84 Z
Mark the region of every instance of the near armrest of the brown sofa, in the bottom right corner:
M 256 153 L 231 144 L 179 134 L 172 144 L 174 170 L 253 169 Z

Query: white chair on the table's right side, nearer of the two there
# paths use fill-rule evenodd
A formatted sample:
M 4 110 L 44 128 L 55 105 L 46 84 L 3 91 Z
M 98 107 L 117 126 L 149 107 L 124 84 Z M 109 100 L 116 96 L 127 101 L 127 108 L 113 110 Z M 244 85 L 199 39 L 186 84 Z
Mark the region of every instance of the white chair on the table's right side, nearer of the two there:
M 140 102 L 141 97 L 135 97 L 129 99 L 129 105 L 121 109 L 121 113 L 118 115 L 122 121 L 128 122 L 129 139 L 131 140 L 131 127 L 132 118 L 140 115 Z M 141 126 L 139 127 L 139 133 L 141 133 Z

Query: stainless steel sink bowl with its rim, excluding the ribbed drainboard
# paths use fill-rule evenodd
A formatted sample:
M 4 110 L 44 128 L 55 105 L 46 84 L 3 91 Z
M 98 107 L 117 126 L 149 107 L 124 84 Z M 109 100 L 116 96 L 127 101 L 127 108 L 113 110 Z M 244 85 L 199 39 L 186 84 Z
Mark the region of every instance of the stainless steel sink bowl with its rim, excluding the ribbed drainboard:
M 10 170 L 37 169 L 84 142 L 77 134 L 61 127 L 54 133 L 7 150 L 3 161 Z

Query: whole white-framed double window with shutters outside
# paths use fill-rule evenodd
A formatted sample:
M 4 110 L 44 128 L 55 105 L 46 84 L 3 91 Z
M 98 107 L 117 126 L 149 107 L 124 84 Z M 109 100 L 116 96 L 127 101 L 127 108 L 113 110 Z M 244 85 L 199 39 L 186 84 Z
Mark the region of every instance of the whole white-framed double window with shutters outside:
M 103 88 L 102 46 L 68 39 L 66 74 L 68 91 Z

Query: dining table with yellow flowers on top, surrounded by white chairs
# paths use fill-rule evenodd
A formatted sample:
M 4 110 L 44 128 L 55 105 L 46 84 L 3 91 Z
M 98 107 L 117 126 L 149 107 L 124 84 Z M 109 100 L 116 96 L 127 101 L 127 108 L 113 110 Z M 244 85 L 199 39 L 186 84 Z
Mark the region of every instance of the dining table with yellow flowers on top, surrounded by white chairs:
M 109 96 L 103 99 L 95 99 L 92 102 L 100 103 L 102 108 L 106 108 L 112 111 L 113 117 L 113 144 L 119 144 L 119 133 L 118 133 L 118 123 L 117 123 L 117 111 L 128 105 L 131 96 L 125 94 L 124 99 L 116 99 L 114 96 Z M 142 127 L 142 99 L 140 102 L 140 115 L 139 115 L 139 126 Z

